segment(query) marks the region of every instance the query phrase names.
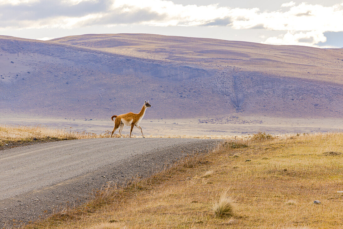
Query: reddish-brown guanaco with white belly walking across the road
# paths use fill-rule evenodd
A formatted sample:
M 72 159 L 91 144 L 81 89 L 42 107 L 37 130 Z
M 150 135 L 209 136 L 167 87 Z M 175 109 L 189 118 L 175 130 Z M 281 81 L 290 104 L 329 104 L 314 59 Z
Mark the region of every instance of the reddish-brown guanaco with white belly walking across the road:
M 142 110 L 138 113 L 138 114 L 135 114 L 135 113 L 127 113 L 127 114 L 121 114 L 121 115 L 113 115 L 111 117 L 112 121 L 114 121 L 114 128 L 112 130 L 112 134 L 111 134 L 111 137 L 113 135 L 113 133 L 119 128 L 119 135 L 121 137 L 123 137 L 121 135 L 121 130 L 123 129 L 124 127 L 124 124 L 127 125 L 127 126 L 131 126 L 131 129 L 130 129 L 130 138 L 131 138 L 131 132 L 132 132 L 132 129 L 133 129 L 133 126 L 137 127 L 138 129 L 141 130 L 141 133 L 142 133 L 142 137 L 144 137 L 143 135 L 143 131 L 142 131 L 142 128 L 138 125 L 139 122 L 142 120 L 143 116 L 144 116 L 144 113 L 145 113 L 145 110 L 147 107 L 151 107 L 151 105 L 149 104 L 149 100 L 146 102 L 146 100 L 144 101 L 144 105 L 142 107 Z M 115 120 L 113 120 L 113 118 L 116 118 Z

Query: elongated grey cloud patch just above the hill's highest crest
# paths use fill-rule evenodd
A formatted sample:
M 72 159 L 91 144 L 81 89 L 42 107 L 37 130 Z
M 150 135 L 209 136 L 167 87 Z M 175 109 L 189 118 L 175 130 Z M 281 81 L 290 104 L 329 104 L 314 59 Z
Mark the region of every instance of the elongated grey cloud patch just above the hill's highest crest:
M 129 9 L 129 11 L 123 11 L 123 9 Z M 138 9 L 132 6 L 123 6 L 121 8 L 116 8 L 114 11 L 107 12 L 98 19 L 90 19 L 82 22 L 81 26 L 90 25 L 106 25 L 106 24 L 130 24 L 136 22 L 146 22 L 146 21 L 163 21 L 167 15 L 159 14 L 152 11 L 150 8 Z

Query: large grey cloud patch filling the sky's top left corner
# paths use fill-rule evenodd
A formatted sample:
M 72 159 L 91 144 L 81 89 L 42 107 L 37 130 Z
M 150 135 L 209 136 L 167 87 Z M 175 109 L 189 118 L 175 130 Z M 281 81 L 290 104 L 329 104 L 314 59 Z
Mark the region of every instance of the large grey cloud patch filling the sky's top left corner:
M 60 0 L 41 0 L 19 5 L 0 5 L 0 21 L 32 21 L 57 16 L 81 17 L 90 13 L 106 12 L 112 1 L 82 1 L 72 5 Z

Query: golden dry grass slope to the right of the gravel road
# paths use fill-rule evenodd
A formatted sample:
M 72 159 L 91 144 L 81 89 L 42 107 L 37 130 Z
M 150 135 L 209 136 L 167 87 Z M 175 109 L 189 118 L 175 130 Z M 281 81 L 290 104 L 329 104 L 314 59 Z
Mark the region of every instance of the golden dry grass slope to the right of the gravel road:
M 342 159 L 340 132 L 257 134 L 24 228 L 342 228 Z M 217 217 L 223 192 L 234 211 Z

